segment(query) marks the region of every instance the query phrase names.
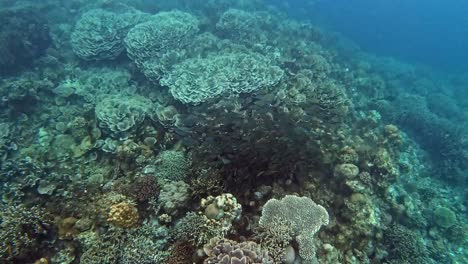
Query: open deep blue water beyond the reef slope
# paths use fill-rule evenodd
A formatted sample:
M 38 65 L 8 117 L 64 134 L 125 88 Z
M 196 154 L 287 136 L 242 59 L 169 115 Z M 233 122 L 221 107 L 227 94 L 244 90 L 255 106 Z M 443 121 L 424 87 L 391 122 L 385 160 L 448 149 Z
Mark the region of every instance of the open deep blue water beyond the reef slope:
M 444 71 L 468 70 L 468 1 L 276 1 L 320 22 L 364 50 Z

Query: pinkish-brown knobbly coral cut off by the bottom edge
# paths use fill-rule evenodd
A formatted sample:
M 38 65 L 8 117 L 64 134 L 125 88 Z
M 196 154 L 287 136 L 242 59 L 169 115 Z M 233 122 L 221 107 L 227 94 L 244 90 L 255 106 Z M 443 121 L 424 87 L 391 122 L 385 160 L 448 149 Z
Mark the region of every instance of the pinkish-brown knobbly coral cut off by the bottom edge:
M 268 252 L 260 245 L 252 241 L 237 243 L 229 239 L 211 240 L 210 244 L 203 247 L 208 257 L 204 264 L 272 264 L 273 260 Z

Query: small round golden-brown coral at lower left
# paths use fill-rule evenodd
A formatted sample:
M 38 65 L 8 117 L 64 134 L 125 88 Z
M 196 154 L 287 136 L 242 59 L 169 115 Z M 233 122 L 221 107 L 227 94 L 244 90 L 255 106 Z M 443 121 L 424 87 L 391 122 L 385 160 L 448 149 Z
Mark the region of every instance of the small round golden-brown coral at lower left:
M 139 218 L 133 203 L 121 202 L 111 206 L 107 221 L 117 227 L 132 228 L 138 224 Z

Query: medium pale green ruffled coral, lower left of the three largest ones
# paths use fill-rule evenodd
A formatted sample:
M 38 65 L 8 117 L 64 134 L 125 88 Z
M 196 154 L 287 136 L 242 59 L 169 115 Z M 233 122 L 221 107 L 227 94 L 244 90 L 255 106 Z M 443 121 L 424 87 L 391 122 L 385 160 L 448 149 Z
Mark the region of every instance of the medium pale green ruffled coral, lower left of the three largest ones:
M 95 108 L 99 126 L 113 137 L 125 139 L 138 129 L 151 111 L 151 101 L 142 96 L 109 96 Z

